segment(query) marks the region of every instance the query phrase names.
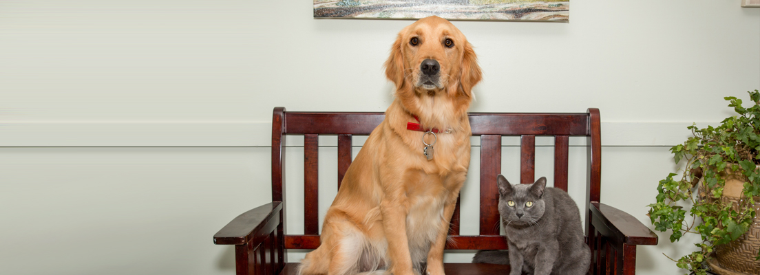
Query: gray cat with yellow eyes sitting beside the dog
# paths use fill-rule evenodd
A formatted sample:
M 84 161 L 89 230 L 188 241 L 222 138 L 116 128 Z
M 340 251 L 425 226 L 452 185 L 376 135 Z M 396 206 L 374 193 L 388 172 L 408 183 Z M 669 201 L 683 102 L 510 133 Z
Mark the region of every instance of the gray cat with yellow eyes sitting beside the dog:
M 591 250 L 572 198 L 562 189 L 546 188 L 544 177 L 531 185 L 511 185 L 499 175 L 497 182 L 509 251 L 478 251 L 473 263 L 511 263 L 510 275 L 587 273 Z

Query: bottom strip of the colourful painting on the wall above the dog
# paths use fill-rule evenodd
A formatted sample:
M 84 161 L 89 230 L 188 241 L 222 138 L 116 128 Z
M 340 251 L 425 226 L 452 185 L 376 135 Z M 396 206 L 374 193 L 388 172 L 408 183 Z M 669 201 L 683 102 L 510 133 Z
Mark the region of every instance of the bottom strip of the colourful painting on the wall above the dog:
M 569 22 L 570 0 L 313 0 L 315 18 Z M 743 0 L 757 2 L 760 0 Z

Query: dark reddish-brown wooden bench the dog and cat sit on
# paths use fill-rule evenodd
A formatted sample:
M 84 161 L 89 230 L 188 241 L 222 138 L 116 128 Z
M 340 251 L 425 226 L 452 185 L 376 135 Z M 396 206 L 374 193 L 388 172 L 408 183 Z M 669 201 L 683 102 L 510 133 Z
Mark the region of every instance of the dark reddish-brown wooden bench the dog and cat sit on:
M 274 109 L 272 119 L 272 202 L 242 213 L 214 235 L 217 245 L 235 245 L 237 274 L 295 274 L 298 263 L 287 263 L 287 249 L 319 245 L 318 135 L 337 135 L 338 188 L 351 163 L 354 135 L 368 135 L 382 112 L 286 112 Z M 657 245 L 657 235 L 628 213 L 600 202 L 601 137 L 598 109 L 582 113 L 470 113 L 473 136 L 480 136 L 480 235 L 460 235 L 459 204 L 451 219 L 447 250 L 507 249 L 499 235 L 496 175 L 502 167 L 502 136 L 521 137 L 520 182 L 534 182 L 537 136 L 554 137 L 554 186 L 568 189 L 568 137 L 587 138 L 585 227 L 591 247 L 591 274 L 634 274 L 636 245 Z M 315 127 L 317 126 L 317 127 Z M 283 195 L 284 149 L 287 135 L 304 136 L 304 235 L 285 232 Z M 474 170 L 474 169 L 473 169 Z M 470 170 L 469 175 L 477 171 Z M 261 183 L 258 183 L 261 184 Z M 465 186 L 465 188 L 467 188 Z M 573 188 L 581 188 L 576 186 Z M 327 203 L 328 205 L 331 203 Z M 475 213 L 469 213 L 471 215 Z M 498 264 L 445 264 L 446 273 L 507 274 Z

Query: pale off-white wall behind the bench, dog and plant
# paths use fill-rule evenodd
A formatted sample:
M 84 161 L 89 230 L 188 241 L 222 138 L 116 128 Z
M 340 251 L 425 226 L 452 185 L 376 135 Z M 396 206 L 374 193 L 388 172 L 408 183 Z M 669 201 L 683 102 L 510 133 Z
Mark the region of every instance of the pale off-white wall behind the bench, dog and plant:
M 0 2 L 0 273 L 234 273 L 211 236 L 270 200 L 272 108 L 384 111 L 382 63 L 410 23 L 315 20 L 308 1 Z M 483 67 L 470 110 L 600 108 L 602 201 L 647 225 L 685 125 L 760 88 L 760 8 L 739 0 L 575 1 L 569 24 L 454 24 Z M 327 186 L 335 149 L 321 150 Z M 683 273 L 662 253 L 692 248 L 660 234 L 639 273 Z

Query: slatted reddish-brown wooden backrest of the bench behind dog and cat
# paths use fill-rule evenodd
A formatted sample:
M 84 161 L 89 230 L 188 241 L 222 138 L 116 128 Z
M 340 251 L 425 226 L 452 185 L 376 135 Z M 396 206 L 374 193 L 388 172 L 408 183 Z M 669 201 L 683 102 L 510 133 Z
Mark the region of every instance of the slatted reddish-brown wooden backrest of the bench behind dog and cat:
M 318 136 L 337 135 L 338 180 L 351 164 L 354 135 L 369 135 L 385 118 L 382 112 L 286 112 L 274 109 L 272 119 L 272 201 L 284 203 L 285 138 L 304 136 L 304 235 L 285 235 L 285 248 L 317 248 L 318 219 Z M 587 137 L 586 207 L 581 213 L 588 223 L 588 204 L 599 201 L 601 139 L 599 109 L 582 113 L 470 113 L 473 136 L 480 136 L 480 235 L 460 235 L 459 203 L 451 219 L 447 249 L 506 249 L 499 235 L 499 191 L 496 175 L 502 168 L 502 136 L 521 137 L 520 182 L 535 181 L 536 136 L 554 137 L 554 187 L 568 190 L 568 138 Z M 474 171 L 470 171 L 472 175 Z M 588 234 L 586 234 L 588 235 Z

